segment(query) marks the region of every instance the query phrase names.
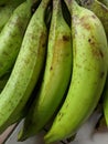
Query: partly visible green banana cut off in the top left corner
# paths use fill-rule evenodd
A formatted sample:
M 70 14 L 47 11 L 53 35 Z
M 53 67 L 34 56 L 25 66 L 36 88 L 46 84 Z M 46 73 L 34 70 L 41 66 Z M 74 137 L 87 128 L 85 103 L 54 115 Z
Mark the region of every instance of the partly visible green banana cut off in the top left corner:
M 13 10 L 23 1 L 24 0 L 17 0 L 3 7 L 0 7 L 0 32 L 11 17 Z

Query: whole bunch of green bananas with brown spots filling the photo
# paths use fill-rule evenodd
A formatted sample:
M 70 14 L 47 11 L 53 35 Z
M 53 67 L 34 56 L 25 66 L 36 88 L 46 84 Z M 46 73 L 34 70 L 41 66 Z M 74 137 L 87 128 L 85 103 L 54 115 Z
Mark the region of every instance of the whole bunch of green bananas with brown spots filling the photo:
M 108 1 L 0 0 L 0 133 L 51 144 L 77 133 L 101 101 L 108 125 Z

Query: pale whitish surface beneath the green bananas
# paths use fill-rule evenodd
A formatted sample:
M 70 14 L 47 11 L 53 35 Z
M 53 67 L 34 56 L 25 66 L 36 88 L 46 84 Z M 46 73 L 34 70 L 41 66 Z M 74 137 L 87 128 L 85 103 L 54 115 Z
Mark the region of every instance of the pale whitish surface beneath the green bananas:
M 99 116 L 100 113 L 95 112 L 90 116 L 90 119 L 79 128 L 76 138 L 68 144 L 108 144 L 108 131 L 93 134 L 94 126 L 97 123 Z M 45 133 L 44 131 L 40 135 L 29 138 L 23 143 L 17 142 L 17 135 L 21 125 L 22 123 L 15 128 L 15 131 L 13 132 L 13 134 L 10 136 L 10 138 L 7 141 L 6 144 L 44 144 L 43 142 L 43 135 Z M 63 143 L 60 142 L 54 144 L 63 144 Z

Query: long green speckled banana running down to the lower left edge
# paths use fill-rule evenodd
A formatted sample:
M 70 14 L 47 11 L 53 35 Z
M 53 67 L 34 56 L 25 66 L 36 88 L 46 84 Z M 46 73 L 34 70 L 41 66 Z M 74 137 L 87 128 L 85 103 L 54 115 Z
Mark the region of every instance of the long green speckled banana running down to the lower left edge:
M 44 65 L 47 40 L 44 12 L 47 2 L 43 0 L 32 16 L 12 73 L 0 94 L 0 133 L 23 113 Z

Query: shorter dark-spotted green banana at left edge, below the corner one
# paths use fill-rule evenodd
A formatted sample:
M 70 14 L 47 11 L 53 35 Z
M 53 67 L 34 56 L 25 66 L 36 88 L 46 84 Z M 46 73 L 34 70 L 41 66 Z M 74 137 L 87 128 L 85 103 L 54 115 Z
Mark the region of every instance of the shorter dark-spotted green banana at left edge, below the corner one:
M 18 56 L 24 32 L 31 18 L 31 7 L 21 3 L 0 33 L 0 76 L 11 69 Z

